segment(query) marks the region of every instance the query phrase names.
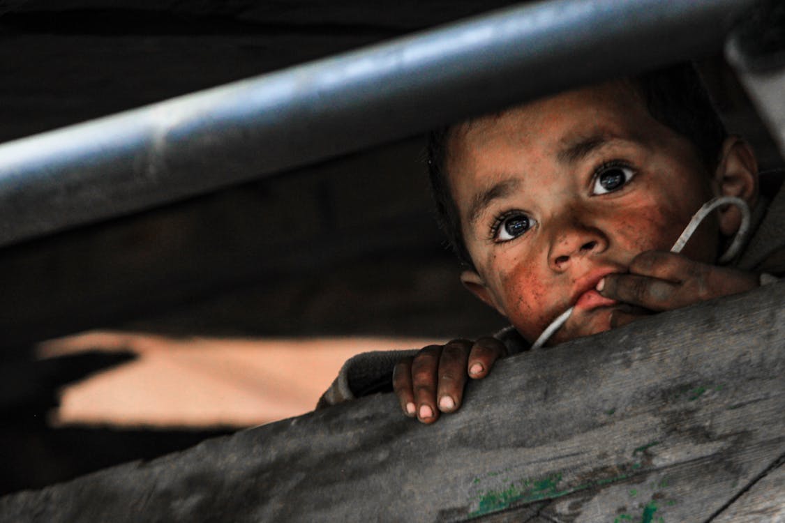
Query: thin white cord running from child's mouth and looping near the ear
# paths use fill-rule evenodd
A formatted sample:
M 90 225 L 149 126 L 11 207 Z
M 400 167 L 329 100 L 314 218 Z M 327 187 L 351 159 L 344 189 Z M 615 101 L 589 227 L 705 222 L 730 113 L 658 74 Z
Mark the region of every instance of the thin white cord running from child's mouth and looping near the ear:
M 739 230 L 736 231 L 736 235 L 733 237 L 733 241 L 731 245 L 728 247 L 728 250 L 720 256 L 718 263 L 728 263 L 730 260 L 738 254 L 739 249 L 743 245 L 744 240 L 747 238 L 747 233 L 750 231 L 750 206 L 747 205 L 747 202 L 744 202 L 741 198 L 736 198 L 735 196 L 717 196 L 717 198 L 712 198 L 708 202 L 701 205 L 698 212 L 696 212 L 692 219 L 689 220 L 687 227 L 685 227 L 684 232 L 681 233 L 681 236 L 676 240 L 674 246 L 670 248 L 670 252 L 681 252 L 681 249 L 685 248 L 689 238 L 692 237 L 692 234 L 698 229 L 700 223 L 709 216 L 710 212 L 714 209 L 717 209 L 720 205 L 736 205 L 741 211 L 741 224 L 739 225 Z M 535 340 L 535 343 L 531 344 L 532 349 L 539 349 L 542 348 L 543 345 L 546 344 L 550 337 L 556 333 L 557 330 L 564 325 L 567 320 L 570 318 L 572 311 L 575 310 L 575 306 L 568 308 L 567 311 L 559 314 L 559 317 L 555 320 L 551 321 L 550 325 L 546 327 L 542 334 L 539 335 L 539 338 Z

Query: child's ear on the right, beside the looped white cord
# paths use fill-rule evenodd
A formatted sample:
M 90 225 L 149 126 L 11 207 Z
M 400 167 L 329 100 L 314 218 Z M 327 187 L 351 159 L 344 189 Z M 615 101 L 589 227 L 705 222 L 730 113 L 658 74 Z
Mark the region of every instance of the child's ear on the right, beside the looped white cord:
M 714 187 L 717 195 L 741 198 L 750 209 L 758 203 L 758 160 L 749 144 L 739 136 L 728 136 L 722 143 Z M 718 212 L 721 233 L 735 234 L 741 224 L 741 212 L 736 205 L 728 205 Z

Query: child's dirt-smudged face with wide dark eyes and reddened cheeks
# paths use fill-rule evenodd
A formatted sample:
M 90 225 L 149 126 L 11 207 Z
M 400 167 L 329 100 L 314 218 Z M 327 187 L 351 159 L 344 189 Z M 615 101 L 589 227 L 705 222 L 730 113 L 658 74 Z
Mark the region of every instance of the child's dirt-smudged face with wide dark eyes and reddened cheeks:
M 717 191 L 692 144 L 621 83 L 463 125 L 447 172 L 476 267 L 462 280 L 530 341 L 573 305 L 553 340 L 610 329 L 626 306 L 593 291 L 597 281 L 669 250 Z M 718 237 L 707 220 L 685 255 L 714 262 Z

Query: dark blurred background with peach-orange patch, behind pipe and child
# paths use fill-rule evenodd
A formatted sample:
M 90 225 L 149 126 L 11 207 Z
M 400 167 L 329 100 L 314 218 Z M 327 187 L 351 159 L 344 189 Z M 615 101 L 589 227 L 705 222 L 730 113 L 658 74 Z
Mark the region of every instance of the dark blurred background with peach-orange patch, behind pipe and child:
M 507 3 L 0 2 L 0 142 Z M 702 68 L 729 127 L 779 165 L 722 60 Z M 308 412 L 357 352 L 504 326 L 458 282 L 423 146 L 0 249 L 0 493 Z

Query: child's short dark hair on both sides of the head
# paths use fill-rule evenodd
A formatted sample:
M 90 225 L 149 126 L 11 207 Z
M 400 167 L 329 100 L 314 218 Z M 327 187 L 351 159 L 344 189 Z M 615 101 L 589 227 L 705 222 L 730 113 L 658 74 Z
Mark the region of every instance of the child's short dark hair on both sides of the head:
M 642 96 L 652 118 L 688 138 L 707 169 L 714 171 L 727 133 L 692 64 L 665 67 L 629 78 L 627 82 Z M 447 142 L 455 127 L 447 125 L 429 133 L 426 150 L 429 180 L 439 226 L 458 259 L 473 267 L 446 173 Z

